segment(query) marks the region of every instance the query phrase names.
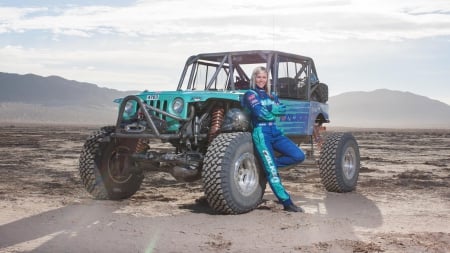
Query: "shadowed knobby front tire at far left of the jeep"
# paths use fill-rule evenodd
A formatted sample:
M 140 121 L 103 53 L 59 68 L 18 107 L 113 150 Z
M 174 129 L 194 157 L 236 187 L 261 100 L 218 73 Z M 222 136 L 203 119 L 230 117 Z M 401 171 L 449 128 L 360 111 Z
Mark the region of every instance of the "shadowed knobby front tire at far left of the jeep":
M 133 166 L 130 155 L 138 139 L 115 139 L 115 127 L 103 127 L 84 143 L 79 172 L 86 190 L 96 199 L 124 199 L 141 186 L 142 170 Z

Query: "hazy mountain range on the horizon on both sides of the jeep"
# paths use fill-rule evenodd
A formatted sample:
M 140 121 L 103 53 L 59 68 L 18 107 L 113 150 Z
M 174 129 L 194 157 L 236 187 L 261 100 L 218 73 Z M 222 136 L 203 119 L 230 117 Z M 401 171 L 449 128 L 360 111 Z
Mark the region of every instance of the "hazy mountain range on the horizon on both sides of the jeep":
M 0 123 L 114 124 L 118 91 L 58 76 L 0 72 Z M 355 128 L 450 129 L 450 106 L 388 89 L 347 92 L 329 98 L 330 125 Z

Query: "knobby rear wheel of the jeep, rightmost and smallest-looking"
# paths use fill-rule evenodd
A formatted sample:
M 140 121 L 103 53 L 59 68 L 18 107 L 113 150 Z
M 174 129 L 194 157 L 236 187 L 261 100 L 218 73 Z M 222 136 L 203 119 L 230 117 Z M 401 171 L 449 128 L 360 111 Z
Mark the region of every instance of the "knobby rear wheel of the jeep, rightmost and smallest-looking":
M 322 145 L 319 170 L 322 184 L 330 192 L 356 188 L 360 169 L 358 143 L 351 133 L 333 133 Z

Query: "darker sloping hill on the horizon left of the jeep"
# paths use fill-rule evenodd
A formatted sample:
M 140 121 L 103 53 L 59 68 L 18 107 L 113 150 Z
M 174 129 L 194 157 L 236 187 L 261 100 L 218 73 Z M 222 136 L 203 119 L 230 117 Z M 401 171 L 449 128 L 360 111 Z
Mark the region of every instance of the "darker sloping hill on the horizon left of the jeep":
M 0 122 L 111 124 L 113 100 L 137 91 L 118 91 L 58 76 L 0 72 Z

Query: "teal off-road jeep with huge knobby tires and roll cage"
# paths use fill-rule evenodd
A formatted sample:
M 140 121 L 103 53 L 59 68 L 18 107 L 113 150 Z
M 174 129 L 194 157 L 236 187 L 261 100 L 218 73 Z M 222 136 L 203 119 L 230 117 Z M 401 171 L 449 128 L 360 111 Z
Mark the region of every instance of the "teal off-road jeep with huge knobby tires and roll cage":
M 360 168 L 358 144 L 350 133 L 322 138 L 329 122 L 328 86 L 319 82 L 313 60 L 262 50 L 191 56 L 176 90 L 116 100 L 115 126 L 101 128 L 84 144 L 79 171 L 86 190 L 98 199 L 128 198 L 145 170 L 166 168 L 177 180 L 202 179 L 205 197 L 219 213 L 256 208 L 266 177 L 240 102 L 256 66 L 269 70 L 272 91 L 286 105 L 278 126 L 316 158 L 326 190 L 352 191 Z M 161 150 L 161 143 L 171 148 Z

